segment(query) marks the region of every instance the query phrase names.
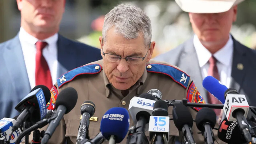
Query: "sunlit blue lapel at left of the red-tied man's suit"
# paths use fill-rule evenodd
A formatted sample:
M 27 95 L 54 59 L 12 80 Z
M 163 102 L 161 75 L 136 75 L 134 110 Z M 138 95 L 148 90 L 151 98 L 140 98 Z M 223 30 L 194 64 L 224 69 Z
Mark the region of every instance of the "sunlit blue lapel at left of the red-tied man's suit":
M 11 76 L 11 83 L 17 95 L 27 95 L 31 90 L 27 69 L 21 49 L 19 34 L 7 45 L 3 54 L 7 69 Z

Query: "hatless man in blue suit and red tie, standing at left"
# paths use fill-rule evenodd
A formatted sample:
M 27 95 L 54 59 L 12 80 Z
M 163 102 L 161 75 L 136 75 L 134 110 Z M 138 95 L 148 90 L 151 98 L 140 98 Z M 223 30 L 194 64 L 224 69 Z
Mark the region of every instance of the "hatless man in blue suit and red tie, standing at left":
M 36 85 L 49 89 L 65 72 L 102 59 L 100 50 L 58 34 L 65 0 L 17 0 L 20 32 L 0 44 L 0 119 Z M 64 80 L 65 81 L 65 80 Z

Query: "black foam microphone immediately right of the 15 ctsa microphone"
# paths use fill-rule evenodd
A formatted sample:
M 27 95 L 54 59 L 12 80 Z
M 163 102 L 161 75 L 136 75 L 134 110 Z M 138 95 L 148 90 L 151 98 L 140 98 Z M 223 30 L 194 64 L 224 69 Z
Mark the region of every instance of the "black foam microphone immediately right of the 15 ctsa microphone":
M 180 103 L 175 104 L 172 109 L 172 118 L 175 126 L 185 135 L 188 144 L 195 144 L 191 131 L 191 127 L 193 126 L 193 118 L 187 107 Z

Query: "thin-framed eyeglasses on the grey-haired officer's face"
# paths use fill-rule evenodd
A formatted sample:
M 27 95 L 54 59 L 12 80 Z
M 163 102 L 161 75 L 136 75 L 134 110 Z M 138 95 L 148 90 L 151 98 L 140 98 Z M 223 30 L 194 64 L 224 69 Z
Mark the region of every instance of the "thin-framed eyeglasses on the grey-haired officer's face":
M 102 38 L 102 43 L 103 43 L 103 38 Z M 151 44 L 151 43 L 150 43 Z M 150 44 L 149 44 L 149 49 L 150 49 Z M 147 53 L 149 52 L 149 49 L 147 50 Z M 110 62 L 118 62 L 120 61 L 120 59 L 122 58 L 120 55 L 115 55 L 115 54 L 110 54 L 110 53 L 104 53 L 103 52 L 103 46 L 102 46 L 102 53 L 104 55 L 104 57 L 110 61 Z M 147 53 L 145 55 L 145 57 L 125 57 L 123 59 L 126 59 L 127 63 L 130 63 L 130 64 L 137 64 L 137 63 L 140 63 L 142 62 L 146 56 L 147 56 Z

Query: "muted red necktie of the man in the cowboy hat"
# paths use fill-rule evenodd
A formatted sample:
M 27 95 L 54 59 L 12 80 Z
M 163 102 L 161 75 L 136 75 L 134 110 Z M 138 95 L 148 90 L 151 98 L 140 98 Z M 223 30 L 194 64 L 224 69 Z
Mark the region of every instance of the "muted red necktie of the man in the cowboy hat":
M 209 69 L 208 69 L 208 75 L 211 75 L 212 77 L 218 79 L 220 81 L 220 76 L 218 72 L 218 68 L 216 65 L 217 59 L 214 56 L 211 56 L 209 59 Z M 208 103 L 212 104 L 222 104 L 218 99 L 216 99 L 210 92 L 208 92 Z M 213 109 L 217 116 L 217 122 L 220 122 L 222 117 L 221 109 Z

